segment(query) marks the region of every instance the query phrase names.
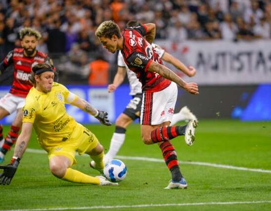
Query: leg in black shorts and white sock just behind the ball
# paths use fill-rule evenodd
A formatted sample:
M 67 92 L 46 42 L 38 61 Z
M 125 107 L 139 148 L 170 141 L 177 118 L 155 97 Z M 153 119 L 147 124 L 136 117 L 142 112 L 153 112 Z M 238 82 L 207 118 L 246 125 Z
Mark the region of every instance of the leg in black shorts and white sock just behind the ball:
M 103 158 L 104 163 L 113 159 L 119 152 L 125 141 L 126 128 L 140 116 L 141 102 L 142 94 L 136 94 L 129 102 L 124 112 L 117 118 L 116 128 L 111 138 L 109 150 Z

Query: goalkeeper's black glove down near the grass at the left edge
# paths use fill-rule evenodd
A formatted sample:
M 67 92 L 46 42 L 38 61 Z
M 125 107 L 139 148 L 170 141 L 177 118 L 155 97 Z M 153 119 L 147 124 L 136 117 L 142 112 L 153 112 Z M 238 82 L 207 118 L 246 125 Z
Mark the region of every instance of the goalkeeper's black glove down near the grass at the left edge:
M 12 177 L 14 176 L 17 167 L 20 163 L 20 158 L 12 158 L 10 164 L 6 166 L 0 166 L 0 169 L 4 169 L 4 171 L 0 174 L 0 184 L 9 185 Z

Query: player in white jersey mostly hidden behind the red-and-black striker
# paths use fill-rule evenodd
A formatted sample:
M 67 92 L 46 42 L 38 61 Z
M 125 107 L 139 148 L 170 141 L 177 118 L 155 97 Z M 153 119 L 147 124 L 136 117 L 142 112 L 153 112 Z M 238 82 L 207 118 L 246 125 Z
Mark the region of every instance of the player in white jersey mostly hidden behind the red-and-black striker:
M 127 23 L 128 28 L 136 27 L 139 25 L 140 24 L 137 21 L 129 21 Z M 152 47 L 158 53 L 159 57 L 162 58 L 163 61 L 173 64 L 177 69 L 181 70 L 187 76 L 192 77 L 196 74 L 196 69 L 194 67 L 186 67 L 179 59 L 166 52 L 159 45 L 152 43 Z M 130 95 L 132 95 L 133 98 L 127 105 L 124 112 L 121 113 L 116 120 L 115 132 L 113 133 L 113 136 L 111 138 L 109 150 L 103 157 L 104 163 L 112 160 L 117 155 L 122 144 L 124 143 L 126 128 L 140 116 L 142 102 L 141 83 L 136 78 L 135 73 L 129 70 L 123 60 L 121 52 L 119 51 L 117 74 L 114 77 L 113 84 L 108 85 L 108 92 L 115 91 L 116 88 L 123 83 L 126 73 L 130 84 Z M 175 123 L 182 120 L 193 119 L 196 119 L 196 117 L 190 112 L 190 110 L 186 106 L 184 106 L 183 108 L 181 108 L 179 113 L 173 115 L 170 125 L 173 126 Z M 93 162 L 91 162 L 90 164 L 94 166 Z

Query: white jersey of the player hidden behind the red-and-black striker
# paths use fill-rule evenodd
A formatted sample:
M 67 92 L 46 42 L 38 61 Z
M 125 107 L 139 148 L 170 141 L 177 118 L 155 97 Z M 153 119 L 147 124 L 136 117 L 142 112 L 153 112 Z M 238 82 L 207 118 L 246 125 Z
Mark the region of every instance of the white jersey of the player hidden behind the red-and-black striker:
M 155 51 L 158 53 L 159 57 L 162 58 L 162 56 L 165 53 L 165 50 L 162 49 L 157 44 L 152 43 L 151 45 L 155 49 Z M 136 78 L 135 73 L 127 67 L 126 63 L 124 62 L 121 51 L 119 51 L 119 54 L 118 54 L 118 66 L 126 68 L 127 77 L 128 77 L 128 81 L 129 81 L 129 85 L 130 85 L 130 90 L 131 90 L 129 94 L 135 95 L 137 93 L 141 93 L 142 92 L 141 83 Z

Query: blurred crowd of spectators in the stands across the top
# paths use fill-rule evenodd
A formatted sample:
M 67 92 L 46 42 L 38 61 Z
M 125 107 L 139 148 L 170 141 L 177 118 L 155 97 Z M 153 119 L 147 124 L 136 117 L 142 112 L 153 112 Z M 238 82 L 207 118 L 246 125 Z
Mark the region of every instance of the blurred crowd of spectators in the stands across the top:
M 123 29 L 134 19 L 155 23 L 156 39 L 176 43 L 271 38 L 270 0 L 1 0 L 0 60 L 20 47 L 19 30 L 33 27 L 43 36 L 37 49 L 58 70 L 74 74 L 78 67 L 76 74 L 86 78 L 96 55 L 111 64 L 116 59 L 98 44 L 97 26 L 114 20 Z

